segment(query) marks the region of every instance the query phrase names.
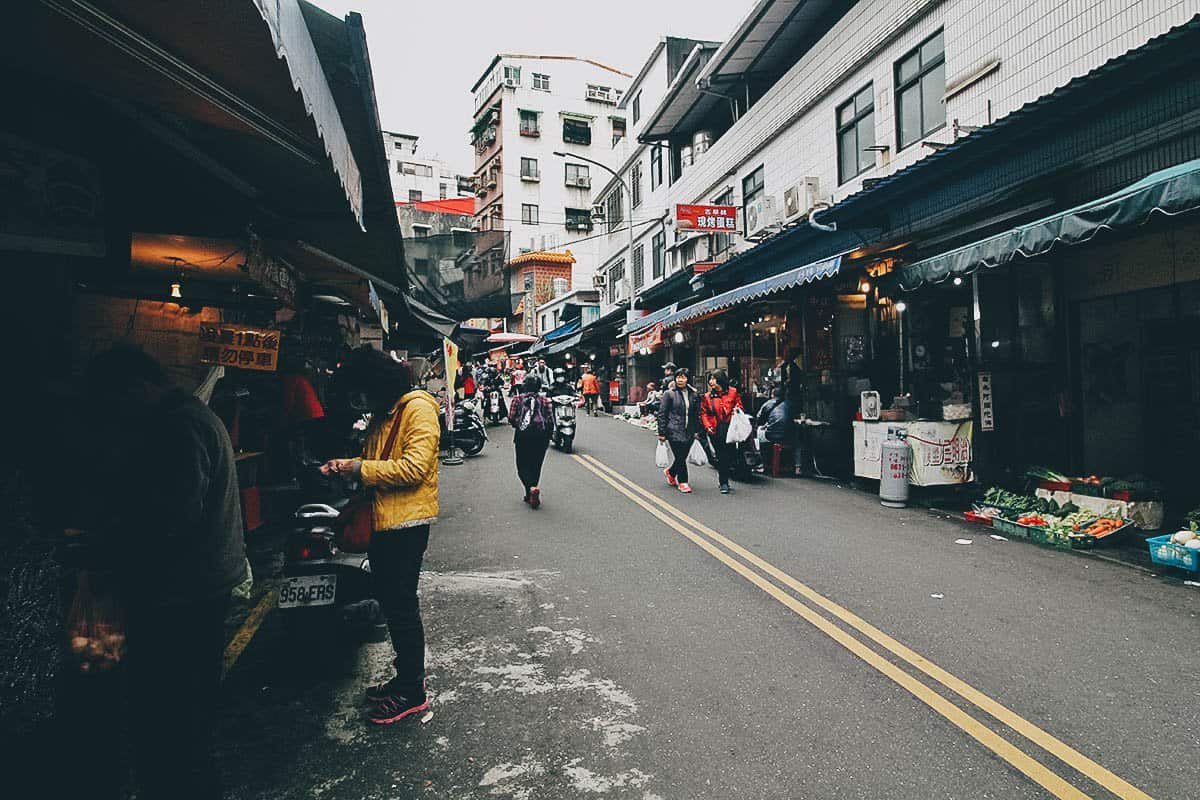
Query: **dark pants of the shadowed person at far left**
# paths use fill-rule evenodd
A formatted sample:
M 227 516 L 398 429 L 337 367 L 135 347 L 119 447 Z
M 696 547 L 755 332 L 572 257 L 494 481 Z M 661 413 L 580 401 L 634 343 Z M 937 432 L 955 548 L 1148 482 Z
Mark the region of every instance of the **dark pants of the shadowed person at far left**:
M 212 751 L 229 597 L 133 606 L 130 733 L 139 800 L 218 800 Z

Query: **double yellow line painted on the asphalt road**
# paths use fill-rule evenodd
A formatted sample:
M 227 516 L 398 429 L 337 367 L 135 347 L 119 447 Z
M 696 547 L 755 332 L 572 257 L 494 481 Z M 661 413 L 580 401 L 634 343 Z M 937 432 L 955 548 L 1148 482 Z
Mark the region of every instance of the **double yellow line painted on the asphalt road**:
M 1075 748 L 1056 739 L 1010 709 L 1001 705 L 966 681 L 955 678 L 924 656 L 914 652 L 900 642 L 896 642 L 894 638 L 862 619 L 850 609 L 839 606 L 828 597 L 824 597 L 810 587 L 779 570 L 774 565 L 746 551 L 737 542 L 731 541 L 712 528 L 708 528 L 703 523 L 691 518 L 679 509 L 676 509 L 671 504 L 664 501 L 658 495 L 652 494 L 599 459 L 593 458 L 592 456 L 580 455 L 574 456 L 574 458 L 580 465 L 626 497 L 635 505 L 656 517 L 665 525 L 686 537 L 718 561 L 762 589 L 764 593 L 803 618 L 806 622 L 811 624 L 830 639 L 870 664 L 874 669 L 895 681 L 918 700 L 943 716 L 950 722 L 950 724 L 955 726 L 984 747 L 994 752 L 996 756 L 1008 762 L 1010 765 L 1025 774 L 1030 780 L 1045 788 L 1054 796 L 1069 798 L 1072 800 L 1088 800 L 1088 795 L 1076 789 L 1063 777 L 1051 771 L 1048 766 L 1036 760 L 1025 751 L 1018 748 L 1007 739 L 996 734 L 991 728 L 986 727 L 961 708 L 944 698 L 942 694 L 934 691 L 934 688 L 918 680 L 913 674 L 902 669 L 893 661 L 889 661 L 880 651 L 869 646 L 863 639 L 851 634 L 847 630 L 836 625 L 833 619 L 842 622 L 848 628 L 857 631 L 862 634 L 862 637 L 874 642 L 882 650 L 890 652 L 899 661 L 926 675 L 932 681 L 936 681 L 936 684 L 949 690 L 976 709 L 990 715 L 1012 730 L 1015 730 L 1028 741 L 1038 745 L 1038 747 L 1045 752 L 1072 766 L 1080 774 L 1087 776 L 1118 798 L 1150 800 L 1150 795 L 1138 787 L 1100 766 Z M 791 593 L 785 591 L 784 588 L 791 590 Z M 811 603 L 811 606 L 821 608 L 829 614 L 829 616 L 817 613 L 817 610 L 809 604 L 800 602 L 797 596 L 803 597 L 805 601 Z

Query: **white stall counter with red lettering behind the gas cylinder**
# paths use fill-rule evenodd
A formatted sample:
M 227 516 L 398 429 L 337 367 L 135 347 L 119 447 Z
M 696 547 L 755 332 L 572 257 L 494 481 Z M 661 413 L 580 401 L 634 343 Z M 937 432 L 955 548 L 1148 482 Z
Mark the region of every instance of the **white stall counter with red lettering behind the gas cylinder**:
M 974 421 L 958 422 L 854 422 L 854 475 L 880 479 L 880 456 L 888 428 L 900 428 L 908 434 L 912 447 L 912 486 L 953 486 L 974 480 L 971 471 L 971 451 Z

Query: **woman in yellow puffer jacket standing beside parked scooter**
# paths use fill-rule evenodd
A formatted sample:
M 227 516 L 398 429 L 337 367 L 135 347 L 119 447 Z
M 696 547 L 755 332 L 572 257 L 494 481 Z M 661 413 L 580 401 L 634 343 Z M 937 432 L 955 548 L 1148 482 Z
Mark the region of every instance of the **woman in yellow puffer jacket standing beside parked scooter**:
M 371 493 L 367 557 L 376 600 L 388 618 L 396 675 L 367 688 L 371 722 L 389 724 L 428 708 L 425 626 L 416 595 L 430 525 L 438 518 L 437 399 L 413 389 L 407 363 L 372 362 L 364 390 L 372 409 L 361 458 L 335 458 L 320 471 L 361 481 Z

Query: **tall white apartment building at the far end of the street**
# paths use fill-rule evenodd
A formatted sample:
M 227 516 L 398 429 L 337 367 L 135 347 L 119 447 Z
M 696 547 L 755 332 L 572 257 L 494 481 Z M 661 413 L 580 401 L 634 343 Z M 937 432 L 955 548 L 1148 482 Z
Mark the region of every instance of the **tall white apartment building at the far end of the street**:
M 592 192 L 604 170 L 570 156 L 616 166 L 613 143 L 628 130 L 619 104 L 630 77 L 570 55 L 502 53 L 492 59 L 472 86 L 481 248 L 491 239 L 499 246 L 503 233 L 510 257 L 570 248 L 572 284 L 592 287 L 601 252 L 592 239 Z M 515 282 L 510 285 L 521 294 Z

